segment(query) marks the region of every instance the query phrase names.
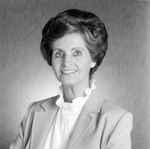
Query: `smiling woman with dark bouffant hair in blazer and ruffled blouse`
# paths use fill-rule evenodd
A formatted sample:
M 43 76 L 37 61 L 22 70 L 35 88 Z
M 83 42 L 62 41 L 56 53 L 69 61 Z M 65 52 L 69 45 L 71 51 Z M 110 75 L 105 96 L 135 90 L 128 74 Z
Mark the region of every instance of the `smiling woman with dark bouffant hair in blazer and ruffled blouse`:
M 132 114 L 107 101 L 93 74 L 107 50 L 93 13 L 66 10 L 42 32 L 41 53 L 62 83 L 58 95 L 32 103 L 10 149 L 130 149 Z

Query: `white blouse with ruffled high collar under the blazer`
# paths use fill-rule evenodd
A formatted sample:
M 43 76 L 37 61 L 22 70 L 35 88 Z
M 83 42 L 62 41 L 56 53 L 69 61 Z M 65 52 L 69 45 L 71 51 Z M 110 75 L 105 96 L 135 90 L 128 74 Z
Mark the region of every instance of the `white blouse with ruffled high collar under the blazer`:
M 50 128 L 43 149 L 66 149 L 82 107 L 95 88 L 95 80 L 93 80 L 90 83 L 90 88 L 84 91 L 84 97 L 77 97 L 73 99 L 72 103 L 68 103 L 64 102 L 62 86 L 59 87 L 60 97 L 56 101 L 59 111 Z

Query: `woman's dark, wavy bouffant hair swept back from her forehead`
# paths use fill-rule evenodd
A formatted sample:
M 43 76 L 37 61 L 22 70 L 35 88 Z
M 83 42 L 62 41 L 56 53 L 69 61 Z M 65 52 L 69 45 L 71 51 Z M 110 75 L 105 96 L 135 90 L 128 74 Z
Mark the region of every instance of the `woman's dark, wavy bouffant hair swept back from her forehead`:
M 52 44 L 71 33 L 80 33 L 96 65 L 90 69 L 89 79 L 101 64 L 108 47 L 108 34 L 104 23 L 91 12 L 69 9 L 51 18 L 42 30 L 41 53 L 52 65 Z

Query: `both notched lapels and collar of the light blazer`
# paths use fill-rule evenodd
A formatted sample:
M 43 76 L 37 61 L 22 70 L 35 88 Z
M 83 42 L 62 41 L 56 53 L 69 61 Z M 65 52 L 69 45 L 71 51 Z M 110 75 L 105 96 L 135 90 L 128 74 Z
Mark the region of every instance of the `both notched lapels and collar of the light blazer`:
M 53 97 L 53 99 L 48 99 L 45 102 L 42 102 L 41 109 L 35 113 L 33 121 L 33 134 L 31 136 L 32 144 L 31 149 L 41 149 L 45 143 L 53 120 L 58 112 L 58 107 L 56 106 L 56 101 L 59 98 L 58 96 Z M 96 88 L 92 91 L 89 99 L 86 101 L 79 119 L 76 123 L 72 137 L 69 141 L 68 148 L 72 148 L 77 142 L 82 138 L 89 125 L 92 122 L 93 114 L 100 112 L 101 104 L 103 98 Z

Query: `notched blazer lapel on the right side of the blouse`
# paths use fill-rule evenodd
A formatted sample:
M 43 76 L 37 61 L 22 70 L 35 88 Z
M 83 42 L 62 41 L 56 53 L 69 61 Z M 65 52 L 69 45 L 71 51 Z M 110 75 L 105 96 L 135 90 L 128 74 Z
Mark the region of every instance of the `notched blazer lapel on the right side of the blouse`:
M 72 149 L 84 136 L 92 122 L 93 114 L 90 115 L 90 113 L 99 113 L 103 100 L 104 99 L 98 89 L 92 91 L 80 113 L 67 149 Z

